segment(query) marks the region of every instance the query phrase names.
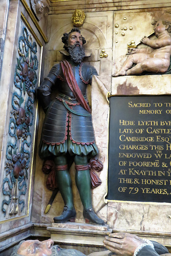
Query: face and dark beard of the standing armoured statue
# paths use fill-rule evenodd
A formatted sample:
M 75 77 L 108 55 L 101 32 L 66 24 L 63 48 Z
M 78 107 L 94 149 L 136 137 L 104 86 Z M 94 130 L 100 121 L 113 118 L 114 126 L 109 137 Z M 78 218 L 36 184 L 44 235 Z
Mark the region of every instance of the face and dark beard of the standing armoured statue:
M 78 32 L 72 32 L 68 38 L 67 51 L 70 54 L 71 60 L 75 63 L 80 63 L 85 56 L 84 49 L 82 47 L 82 36 Z

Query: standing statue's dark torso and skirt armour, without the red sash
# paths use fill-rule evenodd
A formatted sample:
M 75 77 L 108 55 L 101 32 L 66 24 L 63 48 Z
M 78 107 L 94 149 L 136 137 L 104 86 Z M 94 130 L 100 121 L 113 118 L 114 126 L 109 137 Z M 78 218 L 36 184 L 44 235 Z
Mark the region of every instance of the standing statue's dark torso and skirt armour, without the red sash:
M 77 84 L 82 92 L 86 95 L 87 84 L 90 82 L 93 75 L 98 75 L 97 71 L 90 65 L 84 63 L 81 66 L 72 66 L 74 76 Z M 58 79 L 56 79 L 58 78 Z M 69 135 L 73 143 L 78 144 L 92 144 L 94 143 L 94 131 L 92 126 L 92 117 L 90 113 L 85 110 L 75 99 L 68 83 L 63 76 L 60 65 L 55 65 L 48 79 L 54 81 L 54 86 L 58 88 L 58 92 L 68 97 L 63 99 L 74 112 L 79 112 L 82 116 L 75 115 L 65 108 L 61 99 L 55 99 L 47 112 L 44 127 L 42 129 L 42 140 L 51 145 L 64 143 Z M 72 100 L 73 99 L 73 100 Z M 89 113 L 89 116 L 86 114 Z M 69 129 L 68 129 L 69 125 Z

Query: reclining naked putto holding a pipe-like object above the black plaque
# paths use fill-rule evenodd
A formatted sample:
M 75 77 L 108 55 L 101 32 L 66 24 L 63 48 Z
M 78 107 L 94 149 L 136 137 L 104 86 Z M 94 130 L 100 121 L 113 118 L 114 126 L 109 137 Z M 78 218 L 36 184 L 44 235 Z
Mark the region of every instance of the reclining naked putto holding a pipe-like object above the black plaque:
M 147 48 L 129 48 L 129 56 L 122 68 L 112 76 L 137 75 L 145 72 L 164 73 L 170 65 L 171 54 L 171 18 L 170 14 L 155 15 L 153 28 L 156 39 L 144 36 L 141 42 Z M 133 65 L 136 66 L 133 67 Z

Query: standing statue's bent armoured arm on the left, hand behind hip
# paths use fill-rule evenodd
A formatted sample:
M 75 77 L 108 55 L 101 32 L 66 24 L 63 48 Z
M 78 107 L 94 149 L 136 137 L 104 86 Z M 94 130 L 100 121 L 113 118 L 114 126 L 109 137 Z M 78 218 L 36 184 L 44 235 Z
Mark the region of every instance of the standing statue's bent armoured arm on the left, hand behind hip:
M 48 76 L 44 78 L 44 81 L 37 89 L 37 95 L 39 102 L 46 112 L 51 102 L 51 88 L 55 86 L 59 78 L 60 65 L 55 65 L 49 72 Z

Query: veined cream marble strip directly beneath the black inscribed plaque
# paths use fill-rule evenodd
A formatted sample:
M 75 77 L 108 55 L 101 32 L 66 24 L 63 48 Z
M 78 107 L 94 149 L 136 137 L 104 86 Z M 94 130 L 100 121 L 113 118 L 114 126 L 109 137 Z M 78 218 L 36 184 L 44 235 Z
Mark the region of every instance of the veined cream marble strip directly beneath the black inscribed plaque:
M 115 232 L 131 232 L 170 246 L 170 206 L 162 203 L 108 203 L 108 224 Z

